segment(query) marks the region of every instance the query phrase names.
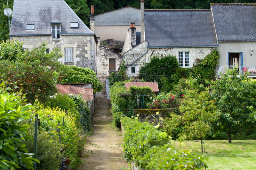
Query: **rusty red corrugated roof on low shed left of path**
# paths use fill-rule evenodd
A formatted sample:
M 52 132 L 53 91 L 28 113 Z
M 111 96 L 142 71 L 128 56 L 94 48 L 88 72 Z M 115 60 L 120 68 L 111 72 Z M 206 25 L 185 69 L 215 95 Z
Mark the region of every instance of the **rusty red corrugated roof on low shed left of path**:
M 85 88 L 85 87 L 77 87 L 74 85 L 61 85 L 61 84 L 55 84 L 58 91 L 61 94 L 74 94 L 78 95 L 81 94 L 83 96 L 84 100 L 92 100 L 93 99 L 93 88 Z

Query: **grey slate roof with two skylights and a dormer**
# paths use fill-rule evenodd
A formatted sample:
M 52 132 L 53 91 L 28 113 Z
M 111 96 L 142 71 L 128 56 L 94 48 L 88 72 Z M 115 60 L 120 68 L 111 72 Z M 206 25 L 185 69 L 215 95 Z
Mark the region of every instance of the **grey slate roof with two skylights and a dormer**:
M 93 34 L 63 0 L 14 0 L 10 35 L 51 34 L 51 22 L 61 22 L 61 34 Z M 78 22 L 78 28 L 70 28 Z M 35 30 L 26 30 L 27 23 L 34 23 Z

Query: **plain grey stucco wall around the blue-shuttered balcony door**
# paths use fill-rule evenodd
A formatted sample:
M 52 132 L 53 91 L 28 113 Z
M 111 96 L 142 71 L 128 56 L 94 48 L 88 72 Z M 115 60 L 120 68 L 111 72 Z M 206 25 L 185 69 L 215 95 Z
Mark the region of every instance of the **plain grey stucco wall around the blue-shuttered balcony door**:
M 251 47 L 254 49 L 253 53 Z M 256 65 L 256 42 L 219 42 L 219 52 L 219 66 L 229 65 L 228 53 L 243 53 L 243 65 Z

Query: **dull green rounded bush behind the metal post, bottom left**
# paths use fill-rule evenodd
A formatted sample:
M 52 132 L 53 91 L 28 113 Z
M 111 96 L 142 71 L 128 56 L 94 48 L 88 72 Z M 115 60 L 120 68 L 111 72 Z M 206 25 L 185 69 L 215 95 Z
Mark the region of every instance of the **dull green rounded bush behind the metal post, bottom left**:
M 34 135 L 35 135 L 35 122 L 31 121 L 29 129 L 27 133 L 32 139 L 28 139 L 24 144 L 28 149 L 28 152 L 34 152 Z M 50 132 L 47 132 L 45 129 L 38 130 L 37 133 L 37 151 L 36 158 L 40 161 L 40 164 L 36 164 L 37 170 L 45 170 L 45 169 L 58 169 L 60 166 L 60 161 L 62 154 L 60 151 L 62 150 L 62 145 L 59 143 L 59 137 L 53 135 Z

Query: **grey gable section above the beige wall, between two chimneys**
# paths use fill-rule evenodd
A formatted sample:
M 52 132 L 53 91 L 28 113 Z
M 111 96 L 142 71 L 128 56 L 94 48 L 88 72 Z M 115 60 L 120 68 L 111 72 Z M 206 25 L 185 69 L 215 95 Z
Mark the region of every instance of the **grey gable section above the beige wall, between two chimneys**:
M 131 6 L 95 15 L 96 26 L 140 26 L 140 9 Z

